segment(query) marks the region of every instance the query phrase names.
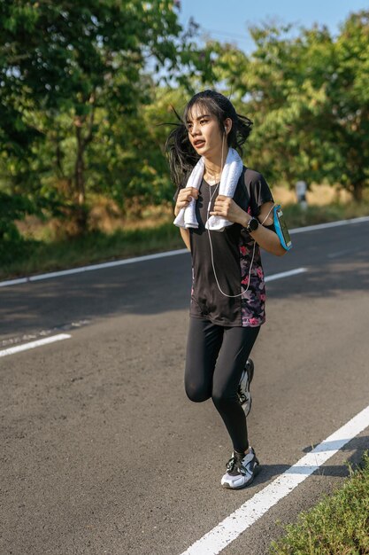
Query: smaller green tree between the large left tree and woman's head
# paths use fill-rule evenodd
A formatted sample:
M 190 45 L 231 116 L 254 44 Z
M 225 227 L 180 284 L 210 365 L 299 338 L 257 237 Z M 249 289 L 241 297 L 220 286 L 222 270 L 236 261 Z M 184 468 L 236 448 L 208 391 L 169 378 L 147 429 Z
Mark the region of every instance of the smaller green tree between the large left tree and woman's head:
M 145 89 L 150 102 L 114 121 L 99 113 L 102 124 L 88 151 L 88 183 L 91 192 L 113 198 L 125 212 L 140 215 L 147 205 L 173 198 L 173 184 L 165 159 L 165 138 L 174 121 L 171 106 L 184 103 L 186 91 L 158 87 L 149 77 Z

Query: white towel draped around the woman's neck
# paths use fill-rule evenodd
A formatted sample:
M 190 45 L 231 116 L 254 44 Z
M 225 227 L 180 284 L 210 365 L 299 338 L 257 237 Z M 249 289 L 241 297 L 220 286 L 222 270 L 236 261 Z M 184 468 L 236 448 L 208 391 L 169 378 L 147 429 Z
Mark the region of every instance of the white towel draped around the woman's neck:
M 201 182 L 203 181 L 204 168 L 205 160 L 204 157 L 202 157 L 198 160 L 195 168 L 192 170 L 186 187 L 199 189 Z M 228 150 L 226 163 L 220 176 L 219 195 L 224 195 L 225 197 L 233 199 L 235 188 L 242 174 L 242 168 L 243 163 L 240 156 L 233 148 L 230 148 Z M 188 207 L 181 208 L 179 215 L 177 215 L 173 223 L 178 227 L 183 227 L 185 229 L 198 228 L 195 207 L 196 199 L 192 199 L 189 202 Z M 220 215 L 211 215 L 209 220 L 205 223 L 205 227 L 207 230 L 211 231 L 223 231 L 225 227 L 232 225 L 232 223 L 233 222 L 229 222 L 226 218 Z

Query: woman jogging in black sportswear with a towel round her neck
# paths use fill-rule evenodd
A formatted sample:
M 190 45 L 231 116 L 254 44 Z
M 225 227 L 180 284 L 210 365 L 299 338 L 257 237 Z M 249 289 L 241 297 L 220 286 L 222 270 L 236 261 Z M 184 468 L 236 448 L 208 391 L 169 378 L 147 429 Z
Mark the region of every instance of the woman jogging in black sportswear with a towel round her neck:
M 269 186 L 236 152 L 251 126 L 226 97 L 205 90 L 188 102 L 166 143 L 177 184 L 174 223 L 192 255 L 186 393 L 194 402 L 211 398 L 227 426 L 234 450 L 221 485 L 230 489 L 248 486 L 258 468 L 237 390 L 265 322 L 259 246 L 286 252 Z

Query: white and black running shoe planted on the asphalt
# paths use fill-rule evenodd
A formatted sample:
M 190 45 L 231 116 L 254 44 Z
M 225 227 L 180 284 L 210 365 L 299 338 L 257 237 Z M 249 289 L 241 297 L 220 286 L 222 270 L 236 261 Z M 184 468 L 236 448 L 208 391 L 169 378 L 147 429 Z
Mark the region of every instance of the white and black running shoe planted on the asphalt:
M 228 489 L 246 488 L 254 480 L 258 466 L 258 458 L 252 447 L 247 455 L 234 451 L 227 462 L 227 473 L 224 474 L 220 483 L 223 488 Z

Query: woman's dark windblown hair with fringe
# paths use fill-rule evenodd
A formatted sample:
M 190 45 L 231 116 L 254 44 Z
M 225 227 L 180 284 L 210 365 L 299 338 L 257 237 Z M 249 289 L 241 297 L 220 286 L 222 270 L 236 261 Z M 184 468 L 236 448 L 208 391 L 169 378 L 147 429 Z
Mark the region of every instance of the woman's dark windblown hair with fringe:
M 165 142 L 165 152 L 169 162 L 171 178 L 176 186 L 183 186 L 186 176 L 196 166 L 200 156 L 188 139 L 187 121 L 194 106 L 205 109 L 219 121 L 219 129 L 224 133 L 224 122 L 232 120 L 232 129 L 227 135 L 227 145 L 237 150 L 242 156 L 242 145 L 250 135 L 252 121 L 244 115 L 236 113 L 234 106 L 227 97 L 215 90 L 203 90 L 192 97 L 185 107 L 182 117 L 175 111 L 179 122 L 174 123 L 174 129 Z

